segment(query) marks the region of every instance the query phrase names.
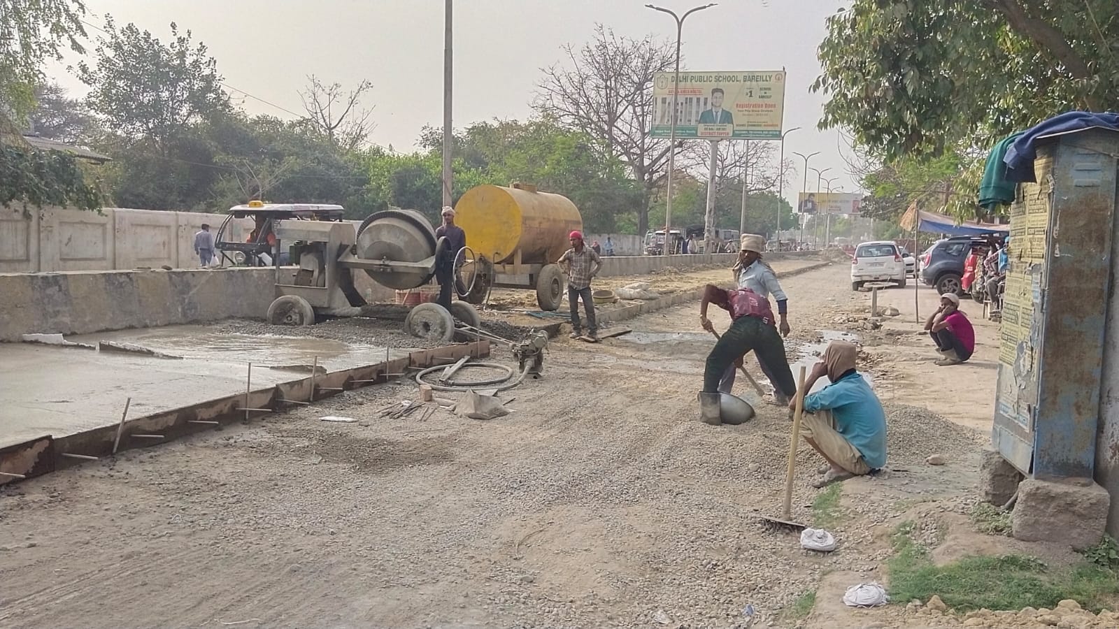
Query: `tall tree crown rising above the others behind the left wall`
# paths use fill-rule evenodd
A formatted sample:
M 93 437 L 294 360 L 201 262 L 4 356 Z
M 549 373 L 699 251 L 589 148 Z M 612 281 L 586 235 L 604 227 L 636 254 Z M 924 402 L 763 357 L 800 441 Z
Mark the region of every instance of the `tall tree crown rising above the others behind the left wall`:
M 129 24 L 117 29 L 105 17 L 94 66 L 78 64 L 78 78 L 90 86 L 88 103 L 106 125 L 130 142 L 150 141 L 163 157 L 172 140 L 189 128 L 229 109 L 217 62 L 190 31 L 171 22 L 171 43 Z

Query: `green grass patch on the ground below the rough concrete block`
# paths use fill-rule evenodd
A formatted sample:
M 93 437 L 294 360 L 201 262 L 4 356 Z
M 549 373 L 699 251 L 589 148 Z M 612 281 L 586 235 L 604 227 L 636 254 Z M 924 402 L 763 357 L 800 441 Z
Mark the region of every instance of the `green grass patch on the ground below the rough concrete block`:
M 903 524 L 893 539 L 890 597 L 896 603 L 928 601 L 937 594 L 949 608 L 966 612 L 1053 608 L 1064 599 L 1074 599 L 1098 611 L 1107 597 L 1119 593 L 1119 573 L 1088 561 L 1065 571 L 1050 570 L 1040 560 L 1023 555 L 965 557 L 937 566 L 929 552 L 913 541 L 912 529 L 912 523 Z

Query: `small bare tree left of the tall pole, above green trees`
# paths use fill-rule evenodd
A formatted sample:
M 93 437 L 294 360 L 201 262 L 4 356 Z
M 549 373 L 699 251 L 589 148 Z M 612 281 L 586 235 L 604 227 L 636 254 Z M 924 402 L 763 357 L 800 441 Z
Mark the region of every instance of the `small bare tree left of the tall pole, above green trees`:
M 344 150 L 360 148 L 369 139 L 376 124 L 369 120 L 373 110 L 358 109 L 361 95 L 373 88 L 373 83 L 363 81 L 345 93 L 338 83 L 323 84 L 313 74 L 308 75 L 307 87 L 299 93 L 308 119 L 330 142 Z

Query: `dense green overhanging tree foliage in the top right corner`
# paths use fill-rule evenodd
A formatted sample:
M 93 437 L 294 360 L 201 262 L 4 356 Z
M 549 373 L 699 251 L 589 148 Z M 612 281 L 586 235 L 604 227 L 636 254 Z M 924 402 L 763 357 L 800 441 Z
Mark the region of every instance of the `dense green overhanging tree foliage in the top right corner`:
M 827 24 L 820 125 L 887 159 L 1119 106 L 1115 0 L 854 0 Z

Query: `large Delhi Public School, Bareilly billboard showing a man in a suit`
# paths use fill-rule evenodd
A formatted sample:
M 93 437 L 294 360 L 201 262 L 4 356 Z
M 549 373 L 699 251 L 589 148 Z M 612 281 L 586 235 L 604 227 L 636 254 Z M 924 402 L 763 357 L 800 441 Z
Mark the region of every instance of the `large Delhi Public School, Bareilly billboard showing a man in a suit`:
M 653 138 L 671 132 L 670 72 L 652 76 Z M 681 72 L 676 137 L 684 140 L 780 140 L 784 71 Z

